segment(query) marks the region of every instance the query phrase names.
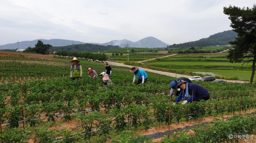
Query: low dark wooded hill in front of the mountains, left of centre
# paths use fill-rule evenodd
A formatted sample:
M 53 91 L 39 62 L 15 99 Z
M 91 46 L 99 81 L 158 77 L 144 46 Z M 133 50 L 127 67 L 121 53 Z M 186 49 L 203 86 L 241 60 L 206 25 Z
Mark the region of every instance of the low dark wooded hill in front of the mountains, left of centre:
M 104 51 L 104 50 L 114 50 L 114 49 L 120 49 L 119 46 L 112 46 L 112 45 L 97 45 L 97 44 L 76 44 L 76 45 L 68 45 L 68 46 L 60 46 L 60 47 L 53 47 L 53 51 L 87 51 L 87 52 L 93 52 L 93 51 Z

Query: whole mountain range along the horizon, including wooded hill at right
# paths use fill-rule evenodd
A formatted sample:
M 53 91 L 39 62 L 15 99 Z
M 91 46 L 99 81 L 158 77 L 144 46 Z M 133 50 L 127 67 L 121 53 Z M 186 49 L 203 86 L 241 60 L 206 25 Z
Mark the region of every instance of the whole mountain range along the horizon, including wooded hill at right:
M 121 48 L 125 47 L 125 45 L 129 45 L 131 48 L 165 48 L 165 47 L 175 47 L 175 48 L 182 48 L 182 47 L 191 47 L 191 46 L 211 46 L 211 45 L 224 45 L 224 44 L 229 44 L 229 41 L 232 41 L 237 37 L 236 32 L 234 31 L 223 31 L 214 35 L 211 35 L 208 38 L 202 38 L 197 41 L 193 42 L 187 42 L 183 44 L 173 44 L 169 45 L 161 40 L 155 38 L 155 37 L 145 37 L 137 42 L 132 42 L 127 39 L 123 40 L 112 40 L 108 43 L 85 43 L 85 42 L 80 42 L 80 41 L 73 41 L 73 40 L 65 40 L 65 39 L 36 39 L 33 41 L 21 41 L 21 42 L 16 42 L 13 44 L 5 44 L 5 45 L 0 45 L 0 48 L 4 49 L 27 49 L 27 47 L 34 47 L 35 44 L 37 44 L 37 41 L 40 40 L 44 44 L 50 44 L 53 47 L 59 47 L 59 46 L 67 46 L 67 45 L 72 45 L 72 44 L 97 44 L 97 45 L 114 45 L 114 46 L 119 46 Z

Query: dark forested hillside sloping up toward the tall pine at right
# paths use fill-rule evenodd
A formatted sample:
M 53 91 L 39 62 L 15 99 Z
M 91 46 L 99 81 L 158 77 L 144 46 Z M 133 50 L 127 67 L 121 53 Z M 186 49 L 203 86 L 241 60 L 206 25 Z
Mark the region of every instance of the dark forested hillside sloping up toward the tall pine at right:
M 235 31 L 223 31 L 214 35 L 211 35 L 208 38 L 202 38 L 197 41 L 186 42 L 182 44 L 172 44 L 167 46 L 168 48 L 186 48 L 192 46 L 215 46 L 215 45 L 227 45 L 230 41 L 235 40 L 237 33 Z

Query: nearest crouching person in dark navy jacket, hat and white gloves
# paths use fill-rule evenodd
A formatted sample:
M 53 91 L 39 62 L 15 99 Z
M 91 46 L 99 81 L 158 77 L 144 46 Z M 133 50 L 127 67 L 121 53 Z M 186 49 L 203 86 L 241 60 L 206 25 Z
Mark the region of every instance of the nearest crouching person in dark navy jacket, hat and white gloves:
M 197 84 L 180 80 L 177 82 L 177 87 L 180 87 L 182 91 L 175 102 L 179 102 L 181 99 L 183 99 L 183 105 L 187 104 L 188 102 L 208 100 L 210 98 L 209 92 Z M 191 96 L 190 98 L 189 95 Z

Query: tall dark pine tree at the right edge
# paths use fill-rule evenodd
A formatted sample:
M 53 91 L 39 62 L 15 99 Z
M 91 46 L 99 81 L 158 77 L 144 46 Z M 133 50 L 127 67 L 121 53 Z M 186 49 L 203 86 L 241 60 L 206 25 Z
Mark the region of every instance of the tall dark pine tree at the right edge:
M 227 57 L 230 62 L 253 63 L 250 78 L 250 83 L 252 83 L 256 63 L 256 5 L 252 8 L 224 7 L 223 12 L 229 15 L 230 26 L 238 36 L 236 40 L 229 42 L 233 46 Z

